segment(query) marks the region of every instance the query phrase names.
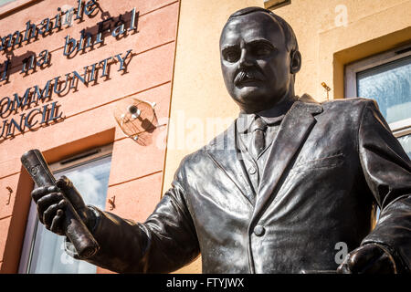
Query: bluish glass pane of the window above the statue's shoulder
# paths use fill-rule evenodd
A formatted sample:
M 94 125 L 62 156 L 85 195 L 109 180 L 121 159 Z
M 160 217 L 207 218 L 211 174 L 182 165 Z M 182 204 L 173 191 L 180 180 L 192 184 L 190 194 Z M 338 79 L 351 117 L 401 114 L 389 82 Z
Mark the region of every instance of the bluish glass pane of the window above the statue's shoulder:
M 357 90 L 378 102 L 388 123 L 411 118 L 411 57 L 357 73 Z

